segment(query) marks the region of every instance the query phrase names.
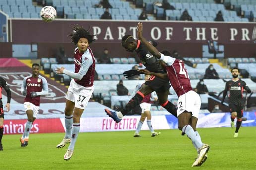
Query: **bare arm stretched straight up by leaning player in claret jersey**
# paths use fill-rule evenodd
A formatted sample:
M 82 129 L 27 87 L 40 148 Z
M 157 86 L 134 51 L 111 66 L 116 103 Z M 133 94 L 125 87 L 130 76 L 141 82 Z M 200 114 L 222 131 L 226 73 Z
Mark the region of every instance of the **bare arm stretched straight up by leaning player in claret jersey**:
M 155 57 L 157 57 L 158 59 L 161 58 L 161 54 L 160 52 L 150 43 L 148 42 L 144 37 L 143 37 L 143 25 L 141 22 L 138 23 L 137 25 L 137 29 L 138 29 L 138 39 L 141 40 L 145 46 L 147 47 L 147 49 L 149 50 L 149 52 L 154 55 Z

